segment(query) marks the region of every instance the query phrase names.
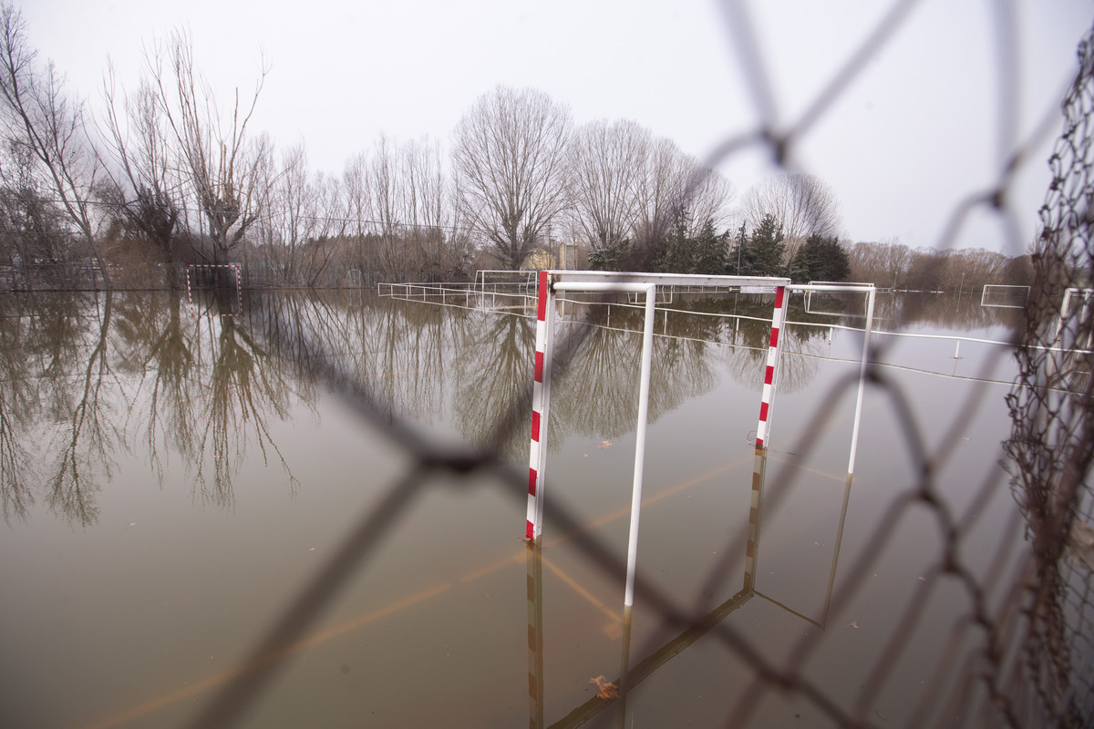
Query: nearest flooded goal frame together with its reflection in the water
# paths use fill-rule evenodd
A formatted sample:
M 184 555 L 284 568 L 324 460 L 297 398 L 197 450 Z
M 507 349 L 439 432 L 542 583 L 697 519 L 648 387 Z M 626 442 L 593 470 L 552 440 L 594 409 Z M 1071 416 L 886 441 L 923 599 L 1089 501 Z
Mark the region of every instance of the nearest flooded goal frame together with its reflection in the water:
M 649 408 L 650 371 L 653 354 L 653 320 L 654 302 L 659 286 L 701 286 L 705 289 L 724 289 L 730 292 L 775 294 L 775 306 L 771 316 L 771 337 L 768 345 L 767 364 L 764 374 L 763 392 L 760 397 L 759 421 L 756 428 L 756 454 L 753 471 L 752 498 L 748 517 L 748 531 L 745 546 L 745 574 L 742 589 L 713 611 L 697 621 L 696 627 L 682 633 L 652 655 L 644 657 L 633 670 L 630 668 L 630 625 L 631 609 L 635 598 L 635 574 L 638 554 L 638 524 L 642 502 L 642 470 L 645 450 L 645 428 Z M 543 716 L 543 572 L 540 566 L 540 537 L 543 533 L 544 486 L 546 469 L 547 421 L 550 412 L 550 375 L 554 349 L 554 318 L 556 293 L 565 292 L 622 292 L 644 294 L 645 314 L 642 331 L 642 355 L 639 378 L 639 408 L 635 444 L 635 471 L 631 492 L 630 532 L 627 546 L 627 578 L 624 593 L 622 619 L 622 656 L 619 678 L 620 716 L 626 712 L 626 694 L 629 685 L 641 681 L 657 667 L 677 655 L 680 650 L 697 640 L 701 635 L 714 627 L 726 615 L 740 608 L 753 595 L 756 595 L 756 565 L 759 551 L 760 513 L 763 491 L 766 474 L 767 448 L 770 440 L 771 409 L 778 387 L 778 369 L 781 354 L 780 329 L 784 320 L 787 293 L 790 286 L 788 279 L 760 277 L 715 277 L 687 274 L 656 273 L 617 273 L 601 271 L 540 271 L 538 277 L 538 297 L 536 307 L 536 351 L 534 385 L 532 395 L 532 433 L 529 442 L 528 466 L 528 502 L 525 519 L 525 539 L 528 542 L 527 585 L 528 585 L 528 695 L 531 709 L 531 726 L 542 727 Z M 873 326 L 875 289 L 870 284 L 837 284 L 819 283 L 795 285 L 794 291 L 808 294 L 812 292 L 850 292 L 865 296 L 865 328 L 862 345 L 862 363 L 859 376 L 858 397 L 854 408 L 854 424 L 851 434 L 851 447 L 848 460 L 848 478 L 843 493 L 843 506 L 836 536 L 833 553 L 831 571 L 828 583 L 828 593 L 822 623 L 827 621 L 828 607 L 831 597 L 831 584 L 836 573 L 836 562 L 843 531 L 843 517 L 847 513 L 850 494 L 851 477 L 854 472 L 856 449 L 858 446 L 859 425 L 862 413 L 862 399 L 865 384 L 866 356 L 870 346 L 870 331 Z M 769 598 L 768 598 L 769 599 Z M 796 613 L 795 613 L 796 614 Z M 808 620 L 808 619 L 806 619 Z M 814 621 L 810 621 L 814 622 Z M 818 624 L 815 623 L 814 624 Z M 560 725 L 578 726 L 598 713 L 605 705 L 601 698 L 593 697 L 590 702 L 575 708 Z

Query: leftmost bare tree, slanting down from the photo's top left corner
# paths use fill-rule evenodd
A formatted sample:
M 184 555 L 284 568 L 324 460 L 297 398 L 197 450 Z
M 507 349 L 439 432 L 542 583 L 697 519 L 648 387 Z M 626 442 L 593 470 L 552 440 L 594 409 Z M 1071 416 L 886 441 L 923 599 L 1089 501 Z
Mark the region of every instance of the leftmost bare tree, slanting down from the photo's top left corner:
M 95 242 L 93 192 L 98 157 L 88 134 L 83 103 L 69 97 L 53 62 L 35 68 L 37 51 L 26 39 L 26 22 L 0 3 L 0 125 L 5 141 L 34 163 L 42 189 L 56 196 L 98 263 L 106 286 L 109 271 Z

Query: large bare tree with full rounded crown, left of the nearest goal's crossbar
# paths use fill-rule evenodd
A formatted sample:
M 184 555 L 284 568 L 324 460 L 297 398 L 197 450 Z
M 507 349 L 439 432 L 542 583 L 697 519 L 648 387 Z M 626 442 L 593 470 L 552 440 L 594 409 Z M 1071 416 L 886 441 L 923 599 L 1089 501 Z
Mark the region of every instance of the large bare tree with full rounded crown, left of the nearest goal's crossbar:
M 498 86 L 453 132 L 457 204 L 502 264 L 519 269 L 567 202 L 565 106 L 532 89 Z

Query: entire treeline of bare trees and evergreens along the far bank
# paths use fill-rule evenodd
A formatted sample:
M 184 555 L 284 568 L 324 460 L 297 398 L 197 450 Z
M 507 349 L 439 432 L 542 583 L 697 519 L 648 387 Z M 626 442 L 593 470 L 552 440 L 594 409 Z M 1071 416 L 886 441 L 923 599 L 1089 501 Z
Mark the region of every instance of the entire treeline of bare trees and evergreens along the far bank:
M 575 125 L 531 89 L 480 96 L 443 149 L 381 137 L 325 174 L 303 142 L 276 149 L 257 131 L 268 67 L 253 95 L 218 104 L 185 32 L 144 60 L 138 79 L 106 69 L 92 104 L 0 1 L 0 281 L 177 285 L 163 272 L 225 262 L 287 286 L 562 267 L 924 290 L 957 289 L 961 272 L 977 286 L 1027 278 L 987 251 L 848 247 L 819 178 L 773 176 L 737 196 L 671 140 L 632 121 Z

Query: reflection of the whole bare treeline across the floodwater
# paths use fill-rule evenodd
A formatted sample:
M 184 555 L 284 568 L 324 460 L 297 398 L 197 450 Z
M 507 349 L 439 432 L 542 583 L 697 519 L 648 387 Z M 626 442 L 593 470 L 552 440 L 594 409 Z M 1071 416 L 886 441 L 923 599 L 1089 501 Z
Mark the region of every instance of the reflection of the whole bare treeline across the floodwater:
M 27 434 L 47 421 L 65 426 L 54 439 L 51 452 L 59 455 L 46 502 L 81 524 L 97 514 L 96 482 L 110 477 L 112 454 L 138 442 L 161 483 L 177 454 L 196 491 L 218 506 L 233 503 L 232 479 L 248 446 L 257 445 L 267 462 L 280 460 L 294 484 L 269 419 L 289 418 L 298 401 L 314 408 L 313 356 L 339 358 L 389 418 L 435 422 L 452 399 L 452 422 L 466 439 L 515 458 L 526 454 L 526 427 L 511 431 L 504 444 L 482 439 L 531 388 L 531 319 L 371 296 L 349 301 L 339 292 L 255 295 L 245 304 L 248 325 L 260 332 L 255 340 L 233 318 L 188 316 L 177 292 L 5 303 L 0 495 L 8 517 L 20 518 L 34 502 L 33 466 L 40 459 Z M 612 325 L 638 329 L 641 310 L 614 309 Z M 637 420 L 641 337 L 579 327 L 560 324 L 556 338 L 558 344 L 578 333 L 580 345 L 569 367 L 556 371 L 552 449 L 567 434 L 616 437 Z M 651 422 L 713 388 L 722 361 L 748 386 L 763 377 L 764 322 L 733 331 L 731 321 L 670 314 L 667 328 L 662 321 L 657 329 L 667 337 L 654 339 Z M 756 349 L 700 341 L 734 337 Z M 792 369 L 784 373 L 795 381 Z

